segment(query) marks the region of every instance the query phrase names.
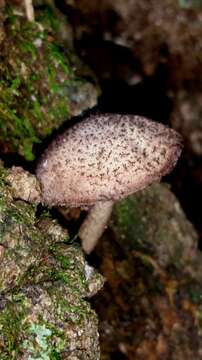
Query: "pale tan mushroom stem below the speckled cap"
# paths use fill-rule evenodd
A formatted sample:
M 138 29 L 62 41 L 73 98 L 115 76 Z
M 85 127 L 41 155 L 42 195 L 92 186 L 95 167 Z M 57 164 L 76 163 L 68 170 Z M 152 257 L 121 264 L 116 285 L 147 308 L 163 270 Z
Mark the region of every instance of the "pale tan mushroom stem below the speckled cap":
M 79 229 L 82 248 L 86 254 L 95 248 L 99 238 L 107 227 L 113 201 L 98 202 L 95 204 Z

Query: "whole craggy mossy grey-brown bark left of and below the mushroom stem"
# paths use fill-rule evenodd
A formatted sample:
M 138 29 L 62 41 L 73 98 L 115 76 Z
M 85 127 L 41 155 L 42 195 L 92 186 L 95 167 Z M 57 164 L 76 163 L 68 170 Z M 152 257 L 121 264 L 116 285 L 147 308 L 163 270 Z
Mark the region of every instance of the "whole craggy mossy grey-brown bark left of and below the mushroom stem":
M 66 230 L 13 199 L 9 173 L 1 164 L 0 358 L 99 359 L 97 317 L 85 298 L 103 280 Z

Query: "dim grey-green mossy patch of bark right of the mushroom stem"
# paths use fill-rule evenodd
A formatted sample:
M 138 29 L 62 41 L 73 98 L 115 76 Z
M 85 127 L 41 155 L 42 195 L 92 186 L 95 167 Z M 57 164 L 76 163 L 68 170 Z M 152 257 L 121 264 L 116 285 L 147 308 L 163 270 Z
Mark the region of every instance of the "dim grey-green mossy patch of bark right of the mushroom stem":
M 126 251 L 149 254 L 175 270 L 191 261 L 187 254 L 197 241 L 177 199 L 162 184 L 153 184 L 116 203 L 110 226 Z

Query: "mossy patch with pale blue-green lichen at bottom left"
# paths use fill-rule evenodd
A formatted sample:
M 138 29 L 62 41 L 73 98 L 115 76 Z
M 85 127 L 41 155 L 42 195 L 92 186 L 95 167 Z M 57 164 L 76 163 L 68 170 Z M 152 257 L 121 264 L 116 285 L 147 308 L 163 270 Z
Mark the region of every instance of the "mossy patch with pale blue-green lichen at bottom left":
M 79 293 L 73 301 L 72 295 L 68 299 L 65 288 L 53 286 L 49 297 L 43 287 L 37 289 L 40 289 L 40 299 L 35 298 L 29 286 L 24 287 L 28 296 L 20 290 L 13 292 L 4 310 L 0 311 L 1 359 L 17 360 L 24 351 L 29 359 L 63 359 L 61 353 L 69 342 L 65 326 L 82 328 L 91 316 L 89 305 Z

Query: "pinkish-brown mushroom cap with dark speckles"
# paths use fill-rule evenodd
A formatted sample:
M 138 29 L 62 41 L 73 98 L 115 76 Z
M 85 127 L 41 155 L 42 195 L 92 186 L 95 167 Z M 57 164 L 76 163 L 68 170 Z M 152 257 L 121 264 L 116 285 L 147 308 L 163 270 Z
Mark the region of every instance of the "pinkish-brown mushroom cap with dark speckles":
M 92 115 L 67 129 L 38 162 L 43 202 L 91 206 L 159 181 L 181 153 L 181 136 L 134 115 Z

